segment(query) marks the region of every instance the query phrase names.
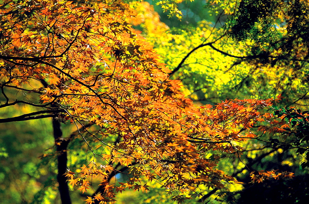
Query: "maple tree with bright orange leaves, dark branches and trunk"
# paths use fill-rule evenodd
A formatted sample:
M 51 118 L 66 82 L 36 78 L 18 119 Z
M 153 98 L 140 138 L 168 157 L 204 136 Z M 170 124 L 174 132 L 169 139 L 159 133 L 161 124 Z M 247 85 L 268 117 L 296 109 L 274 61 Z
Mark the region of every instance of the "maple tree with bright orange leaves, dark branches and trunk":
M 161 4 L 174 5 L 167 8 L 177 15 L 176 2 Z M 208 189 L 239 183 L 235 175 L 217 168 L 219 162 L 229 156 L 240 159 L 243 144 L 266 134 L 271 135 L 268 143 L 273 148 L 308 152 L 304 131 L 308 112 L 278 109 L 272 113 L 271 106 L 280 96 L 194 106 L 181 91 L 181 81 L 170 78 L 187 57 L 171 72 L 132 27 L 144 20 L 142 26 L 150 38 L 167 31 L 155 14 L 143 19 L 146 8 L 145 2 L 56 0 L 3 1 L 0 7 L 4 98 L 0 108 L 20 104 L 35 108 L 0 122 L 53 119 L 53 154 L 63 203 L 71 202 L 67 180 L 87 196 L 87 203 L 114 202 L 116 194 L 126 189 L 148 191 L 148 181 L 158 182 L 178 202 L 191 197 L 204 200 Z M 160 26 L 151 27 L 147 18 Z M 214 47 L 221 39 L 198 48 L 208 46 L 212 52 L 235 57 Z M 238 58 L 259 59 L 261 55 L 256 56 Z M 71 123 L 76 130 L 65 137 L 61 123 Z M 256 132 L 251 131 L 254 126 L 259 126 Z M 285 130 L 290 139 L 279 141 Z M 74 150 L 68 145 L 76 141 L 83 142 L 80 148 L 90 156 L 72 169 L 67 163 Z M 126 179 L 111 182 L 119 173 Z M 275 170 L 251 173 L 255 182 L 292 175 Z M 99 187 L 95 189 L 94 183 Z

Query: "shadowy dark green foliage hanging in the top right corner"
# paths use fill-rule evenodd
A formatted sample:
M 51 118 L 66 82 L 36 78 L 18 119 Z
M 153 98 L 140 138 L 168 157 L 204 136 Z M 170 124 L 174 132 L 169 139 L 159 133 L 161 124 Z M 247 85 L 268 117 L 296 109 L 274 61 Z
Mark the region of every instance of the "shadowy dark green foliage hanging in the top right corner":
M 245 0 L 225 29 L 237 41 L 254 40 L 253 54 L 282 48 L 288 53 L 300 42 L 308 43 L 308 4 L 304 1 Z M 287 56 L 285 56 L 287 57 Z

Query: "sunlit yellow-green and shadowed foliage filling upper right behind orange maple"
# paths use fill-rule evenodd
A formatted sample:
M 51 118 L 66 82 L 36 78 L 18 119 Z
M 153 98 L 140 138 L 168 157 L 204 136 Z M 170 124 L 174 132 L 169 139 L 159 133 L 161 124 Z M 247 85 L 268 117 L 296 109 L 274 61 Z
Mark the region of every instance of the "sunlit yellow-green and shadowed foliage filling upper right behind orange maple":
M 173 77 L 185 85 L 186 94 L 207 103 L 225 98 L 270 98 L 282 94 L 283 106 L 297 103 L 306 107 L 308 38 L 303 30 L 308 23 L 293 24 L 297 22 L 297 12 L 307 12 L 307 4 L 299 7 L 297 3 L 291 5 L 286 1 L 241 1 L 234 7 L 233 1 L 214 2 L 218 5 L 212 10 L 225 6 L 225 12 L 233 14 L 222 29 L 201 21 L 197 27 L 186 25 L 163 34 L 146 35 L 157 52 L 165 56 L 162 61 L 171 70 L 189 51 L 217 40 L 214 47 L 222 53 L 208 46 L 201 47 L 190 54 L 174 74 Z M 232 8 L 236 11 L 232 12 Z M 296 30 L 292 31 L 292 27 Z M 147 33 L 147 27 L 143 29 Z

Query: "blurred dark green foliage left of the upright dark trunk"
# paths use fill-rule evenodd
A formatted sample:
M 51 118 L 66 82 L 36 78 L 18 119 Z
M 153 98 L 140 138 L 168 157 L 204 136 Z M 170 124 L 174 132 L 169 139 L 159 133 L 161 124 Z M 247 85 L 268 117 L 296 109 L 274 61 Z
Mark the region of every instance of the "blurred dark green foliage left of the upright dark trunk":
M 42 131 L 41 127 L 46 128 Z M 6 127 L 2 123 L 0 128 L 0 141 L 6 149 L 6 157 L 0 157 L 2 203 L 31 202 L 45 179 L 53 174 L 47 166 L 40 165 L 38 159 L 53 144 L 51 138 L 46 137 L 50 134 L 49 123 L 29 121 Z

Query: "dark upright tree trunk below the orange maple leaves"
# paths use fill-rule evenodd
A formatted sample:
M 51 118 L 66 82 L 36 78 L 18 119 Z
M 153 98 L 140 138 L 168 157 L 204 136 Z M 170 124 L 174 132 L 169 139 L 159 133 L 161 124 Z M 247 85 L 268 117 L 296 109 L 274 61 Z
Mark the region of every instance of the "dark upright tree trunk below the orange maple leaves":
M 57 119 L 53 119 L 53 131 L 55 144 L 58 153 L 58 175 L 57 181 L 59 183 L 59 192 L 62 204 L 71 204 L 71 198 L 69 193 L 69 186 L 66 182 L 66 177 L 63 175 L 67 169 L 67 154 L 66 148 L 70 142 L 69 139 L 62 137 L 61 125 Z

